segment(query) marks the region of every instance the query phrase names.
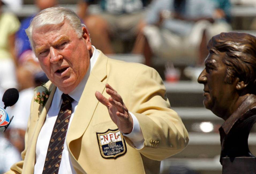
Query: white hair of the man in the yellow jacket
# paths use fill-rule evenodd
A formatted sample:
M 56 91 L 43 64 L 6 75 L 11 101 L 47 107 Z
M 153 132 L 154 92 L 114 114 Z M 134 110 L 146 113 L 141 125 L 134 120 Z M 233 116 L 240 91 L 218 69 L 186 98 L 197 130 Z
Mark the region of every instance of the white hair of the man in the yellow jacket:
M 85 25 L 81 23 L 76 13 L 73 10 L 64 7 L 51 7 L 37 13 L 31 20 L 29 27 L 26 29 L 32 49 L 34 49 L 32 39 L 32 32 L 34 29 L 45 25 L 60 24 L 64 19 L 69 22 L 69 25 L 74 29 L 78 38 L 81 38 L 83 34 L 82 27 Z

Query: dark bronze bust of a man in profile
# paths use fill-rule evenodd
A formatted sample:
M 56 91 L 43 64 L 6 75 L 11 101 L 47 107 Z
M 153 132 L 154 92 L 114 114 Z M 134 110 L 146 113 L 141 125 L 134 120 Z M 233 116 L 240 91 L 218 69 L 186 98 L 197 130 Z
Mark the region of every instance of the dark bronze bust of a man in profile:
M 220 127 L 222 157 L 252 156 L 248 135 L 256 121 L 256 38 L 245 33 L 221 33 L 208 43 L 204 106 L 225 120 Z

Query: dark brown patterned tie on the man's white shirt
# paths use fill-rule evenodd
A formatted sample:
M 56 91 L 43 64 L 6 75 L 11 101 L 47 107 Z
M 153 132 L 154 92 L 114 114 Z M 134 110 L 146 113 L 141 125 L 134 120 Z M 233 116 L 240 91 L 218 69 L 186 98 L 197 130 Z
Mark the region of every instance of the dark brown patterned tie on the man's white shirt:
M 74 100 L 67 94 L 62 94 L 62 99 L 61 109 L 54 124 L 48 145 L 43 174 L 57 174 L 59 172 L 64 141 L 71 116 L 71 103 Z

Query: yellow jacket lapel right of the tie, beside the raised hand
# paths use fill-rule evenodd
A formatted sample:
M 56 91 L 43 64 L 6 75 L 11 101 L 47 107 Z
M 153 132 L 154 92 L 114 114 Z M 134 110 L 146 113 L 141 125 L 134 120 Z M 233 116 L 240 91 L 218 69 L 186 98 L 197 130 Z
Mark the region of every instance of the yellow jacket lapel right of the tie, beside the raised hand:
M 80 151 L 80 149 L 75 148 L 77 146 L 72 145 L 72 141 L 80 138 L 84 134 L 91 121 L 97 104 L 99 103 L 95 97 L 95 92 L 99 91 L 103 93 L 105 89 L 105 84 L 102 81 L 107 77 L 107 60 L 107 56 L 100 52 L 85 85 L 84 91 L 76 108 L 74 118 L 67 133 L 67 147 L 71 154 L 70 156 L 73 167 L 77 169 L 77 171 L 83 171 L 81 166 L 77 163 L 78 156 L 76 155 L 76 152 Z

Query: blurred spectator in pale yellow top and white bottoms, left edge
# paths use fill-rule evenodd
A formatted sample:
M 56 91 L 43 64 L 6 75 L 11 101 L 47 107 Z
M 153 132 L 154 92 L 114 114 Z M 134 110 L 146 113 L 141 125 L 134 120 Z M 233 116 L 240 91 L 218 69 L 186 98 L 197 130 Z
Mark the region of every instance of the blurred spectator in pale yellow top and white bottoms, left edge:
M 3 2 L 0 0 L 0 87 L 6 90 L 17 87 L 14 43 L 20 22 L 15 15 L 3 13 L 2 5 Z

